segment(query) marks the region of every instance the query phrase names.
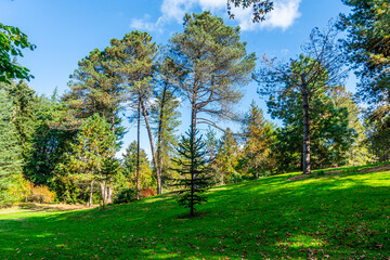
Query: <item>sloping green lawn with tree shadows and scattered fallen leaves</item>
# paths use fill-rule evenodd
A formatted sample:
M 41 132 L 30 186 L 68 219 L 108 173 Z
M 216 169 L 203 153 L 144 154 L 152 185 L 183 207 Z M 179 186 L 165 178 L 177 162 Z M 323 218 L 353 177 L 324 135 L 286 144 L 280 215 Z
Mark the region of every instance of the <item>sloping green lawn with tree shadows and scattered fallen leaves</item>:
M 170 195 L 105 210 L 0 212 L 0 259 L 388 259 L 390 172 L 372 167 L 220 186 L 194 219 Z

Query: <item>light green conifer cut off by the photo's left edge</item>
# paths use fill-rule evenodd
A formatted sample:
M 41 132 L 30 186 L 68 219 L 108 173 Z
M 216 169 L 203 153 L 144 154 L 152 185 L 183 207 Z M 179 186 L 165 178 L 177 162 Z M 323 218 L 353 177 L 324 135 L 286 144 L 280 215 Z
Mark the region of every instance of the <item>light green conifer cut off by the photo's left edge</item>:
M 0 90 L 0 207 L 17 200 L 9 191 L 17 185 L 22 173 L 22 148 L 17 142 L 17 131 L 11 123 L 12 103 L 3 90 Z

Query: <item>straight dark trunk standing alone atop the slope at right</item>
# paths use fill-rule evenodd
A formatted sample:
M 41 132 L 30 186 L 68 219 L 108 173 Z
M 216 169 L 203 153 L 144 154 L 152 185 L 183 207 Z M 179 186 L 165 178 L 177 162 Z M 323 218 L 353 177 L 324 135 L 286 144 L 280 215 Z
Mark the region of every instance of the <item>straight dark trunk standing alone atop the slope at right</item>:
M 308 86 L 302 77 L 302 105 L 303 105 L 303 174 L 310 174 L 310 118 Z

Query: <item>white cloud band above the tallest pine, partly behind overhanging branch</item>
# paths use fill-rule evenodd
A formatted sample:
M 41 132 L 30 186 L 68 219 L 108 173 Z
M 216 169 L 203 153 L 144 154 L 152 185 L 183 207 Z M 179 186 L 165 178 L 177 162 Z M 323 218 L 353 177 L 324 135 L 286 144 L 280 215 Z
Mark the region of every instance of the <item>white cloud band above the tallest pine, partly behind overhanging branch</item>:
M 251 22 L 251 9 L 232 8 L 235 20 L 239 23 L 242 30 L 255 30 L 263 28 L 282 28 L 287 29 L 294 22 L 300 17 L 299 4 L 301 0 L 276 0 L 274 10 L 268 15 L 266 20 L 261 23 L 253 24 Z M 133 18 L 130 27 L 148 30 L 160 31 L 166 24 L 176 22 L 183 23 L 183 16 L 186 12 L 191 12 L 195 6 L 200 6 L 203 11 L 211 10 L 218 12 L 219 15 L 226 15 L 226 0 L 164 0 L 160 6 L 161 16 L 157 22 L 150 22 L 150 16 L 143 18 Z

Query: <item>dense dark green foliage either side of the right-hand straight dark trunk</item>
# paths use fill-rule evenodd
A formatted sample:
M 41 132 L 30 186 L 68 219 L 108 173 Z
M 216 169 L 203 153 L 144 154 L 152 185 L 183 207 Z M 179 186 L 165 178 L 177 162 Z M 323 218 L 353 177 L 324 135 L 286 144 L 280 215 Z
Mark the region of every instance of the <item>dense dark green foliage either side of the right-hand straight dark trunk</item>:
M 315 88 L 309 102 L 312 168 L 342 164 L 353 143 L 354 131 L 349 128 L 348 109 L 337 107 L 328 95 L 330 88 Z M 314 92 L 315 91 L 315 92 Z M 302 94 L 289 92 L 268 102 L 271 116 L 283 120 L 276 131 L 275 152 L 282 171 L 299 170 L 302 158 Z

